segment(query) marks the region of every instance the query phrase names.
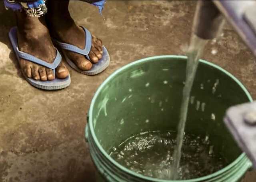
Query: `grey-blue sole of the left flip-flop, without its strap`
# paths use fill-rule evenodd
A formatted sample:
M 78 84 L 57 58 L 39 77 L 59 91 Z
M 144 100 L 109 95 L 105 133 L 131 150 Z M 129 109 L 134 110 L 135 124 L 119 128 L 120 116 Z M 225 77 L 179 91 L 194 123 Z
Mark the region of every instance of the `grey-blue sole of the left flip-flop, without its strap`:
M 17 47 L 18 47 L 17 27 L 12 27 L 10 29 L 9 38 L 12 43 L 14 52 L 16 53 L 18 62 L 20 64 L 20 56 L 17 50 Z M 40 80 L 34 80 L 32 78 L 28 78 L 23 71 L 22 71 L 22 74 L 25 77 L 25 79 L 28 81 L 28 83 L 30 83 L 32 86 L 35 86 L 36 88 L 40 88 L 44 90 L 59 90 L 62 88 L 66 88 L 70 85 L 70 82 L 71 82 L 70 74 L 68 75 L 68 77 L 64 79 L 55 78 L 54 80 L 49 80 L 49 81 L 40 81 Z

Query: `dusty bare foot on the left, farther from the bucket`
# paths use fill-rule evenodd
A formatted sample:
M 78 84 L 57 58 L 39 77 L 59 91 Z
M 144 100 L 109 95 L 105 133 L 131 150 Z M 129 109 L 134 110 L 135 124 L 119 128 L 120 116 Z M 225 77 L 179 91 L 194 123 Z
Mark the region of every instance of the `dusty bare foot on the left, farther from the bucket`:
M 52 63 L 56 57 L 56 49 L 52 44 L 44 17 L 35 18 L 27 16 L 25 12 L 16 12 L 16 19 L 19 50 L 47 63 Z M 20 67 L 28 78 L 33 78 L 34 80 L 46 81 L 55 78 L 52 69 L 32 63 L 26 59 L 20 59 Z M 68 76 L 68 69 L 63 62 L 56 68 L 56 76 L 58 78 L 66 78 Z

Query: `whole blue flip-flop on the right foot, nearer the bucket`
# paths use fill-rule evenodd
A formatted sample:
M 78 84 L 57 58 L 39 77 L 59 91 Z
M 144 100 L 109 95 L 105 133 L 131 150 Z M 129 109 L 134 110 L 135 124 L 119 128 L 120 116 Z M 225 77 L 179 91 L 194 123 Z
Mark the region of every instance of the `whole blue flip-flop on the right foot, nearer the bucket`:
M 82 27 L 82 26 L 80 26 Z M 68 50 L 68 51 L 72 51 L 74 53 L 78 53 L 78 54 L 82 54 L 82 55 L 85 55 L 86 56 L 86 59 L 90 60 L 90 57 L 89 57 L 89 52 L 91 50 L 91 46 L 92 46 L 92 35 L 90 33 L 90 31 L 88 31 L 85 27 L 82 27 L 85 31 L 85 34 L 86 34 L 86 42 L 85 42 L 85 47 L 84 49 L 80 49 L 78 47 L 76 47 L 75 45 L 70 45 L 70 44 L 67 44 L 67 43 L 62 43 L 60 41 L 57 41 L 57 40 L 54 40 L 54 42 L 60 46 L 61 49 L 65 49 L 65 50 Z M 88 71 L 83 71 L 83 70 L 80 70 L 69 58 L 68 56 L 66 55 L 66 53 L 63 52 L 65 58 L 66 58 L 66 61 L 67 63 L 70 65 L 70 67 L 74 68 L 76 71 L 82 73 L 82 74 L 86 74 L 86 75 L 95 75 L 95 74 L 99 74 L 100 72 L 102 72 L 103 70 L 105 70 L 109 63 L 110 63 L 110 56 L 108 54 L 108 51 L 106 49 L 106 47 L 102 46 L 102 51 L 103 51 L 103 54 L 102 54 L 102 58 L 98 61 L 98 63 L 96 64 L 92 64 L 92 68 Z

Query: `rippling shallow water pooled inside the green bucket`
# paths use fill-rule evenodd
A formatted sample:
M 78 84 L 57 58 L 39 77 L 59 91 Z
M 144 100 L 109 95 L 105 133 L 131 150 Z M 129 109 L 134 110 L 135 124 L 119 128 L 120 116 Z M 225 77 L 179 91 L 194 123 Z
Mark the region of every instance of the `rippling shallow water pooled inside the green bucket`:
M 122 166 L 158 179 L 172 179 L 176 131 L 149 131 L 134 135 L 113 147 L 110 156 Z M 177 179 L 192 179 L 212 174 L 228 160 L 214 152 L 208 135 L 186 133 Z

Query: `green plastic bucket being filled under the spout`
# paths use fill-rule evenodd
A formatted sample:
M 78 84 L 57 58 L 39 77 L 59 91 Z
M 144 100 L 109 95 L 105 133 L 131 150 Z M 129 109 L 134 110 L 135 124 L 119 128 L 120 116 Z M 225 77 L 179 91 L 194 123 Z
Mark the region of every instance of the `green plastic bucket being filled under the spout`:
M 141 59 L 114 72 L 98 88 L 85 132 L 98 182 L 174 182 L 132 172 L 108 154 L 112 147 L 140 132 L 176 130 L 186 60 L 174 55 Z M 230 106 L 252 101 L 250 94 L 232 74 L 200 60 L 191 96 L 194 102 L 189 105 L 186 133 L 209 135 L 214 150 L 230 164 L 208 176 L 176 182 L 239 182 L 252 164 L 222 119 Z

